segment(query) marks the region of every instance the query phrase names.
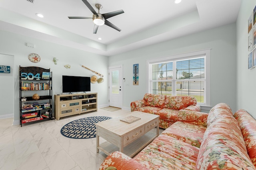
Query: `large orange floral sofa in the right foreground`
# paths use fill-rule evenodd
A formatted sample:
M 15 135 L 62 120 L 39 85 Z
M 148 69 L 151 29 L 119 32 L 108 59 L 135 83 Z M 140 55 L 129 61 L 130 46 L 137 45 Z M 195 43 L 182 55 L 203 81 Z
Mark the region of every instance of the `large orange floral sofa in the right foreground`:
M 134 158 L 113 152 L 100 170 L 256 170 L 256 120 L 214 106 L 206 126 L 177 121 Z

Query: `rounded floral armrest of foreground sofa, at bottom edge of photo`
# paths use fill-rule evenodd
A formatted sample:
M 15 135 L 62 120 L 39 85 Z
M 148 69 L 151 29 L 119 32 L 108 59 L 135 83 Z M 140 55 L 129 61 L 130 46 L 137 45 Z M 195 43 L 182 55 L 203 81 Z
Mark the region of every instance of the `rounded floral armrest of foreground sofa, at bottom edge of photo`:
M 116 151 L 108 155 L 99 170 L 148 170 L 126 154 Z

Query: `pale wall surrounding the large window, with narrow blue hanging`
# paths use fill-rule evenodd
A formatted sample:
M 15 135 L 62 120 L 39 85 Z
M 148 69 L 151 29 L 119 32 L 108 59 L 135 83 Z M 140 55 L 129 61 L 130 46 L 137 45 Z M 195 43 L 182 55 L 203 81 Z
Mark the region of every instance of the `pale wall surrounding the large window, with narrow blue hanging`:
M 109 66 L 123 64 L 124 107 L 143 98 L 146 90 L 146 60 L 211 48 L 211 106 L 220 102 L 236 110 L 236 24 L 195 33 L 127 53 L 111 56 Z M 132 85 L 132 66 L 139 64 L 139 86 Z M 255 69 L 256 70 L 256 69 Z M 223 86 L 225 84 L 225 86 Z M 208 109 L 208 108 L 204 108 Z M 207 112 L 208 110 L 202 111 Z

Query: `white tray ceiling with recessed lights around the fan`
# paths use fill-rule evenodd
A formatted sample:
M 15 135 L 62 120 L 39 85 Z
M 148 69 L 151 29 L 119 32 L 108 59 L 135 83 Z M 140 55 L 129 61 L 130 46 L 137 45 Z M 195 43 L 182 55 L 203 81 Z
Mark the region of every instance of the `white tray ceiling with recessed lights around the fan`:
M 182 0 L 180 4 L 173 0 L 88 2 L 96 12 L 95 4 L 102 4 L 101 14 L 124 10 L 108 19 L 122 31 L 102 25 L 93 34 L 92 19 L 68 19 L 92 17 L 82 0 L 0 0 L 0 29 L 110 56 L 233 23 L 241 4 L 241 0 Z

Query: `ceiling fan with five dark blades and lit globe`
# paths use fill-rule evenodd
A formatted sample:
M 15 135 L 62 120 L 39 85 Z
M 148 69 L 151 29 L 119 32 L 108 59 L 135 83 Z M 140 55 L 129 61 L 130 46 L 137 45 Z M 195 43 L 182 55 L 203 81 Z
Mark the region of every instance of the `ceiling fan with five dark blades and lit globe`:
M 95 7 L 98 9 L 98 13 L 92 8 L 92 6 L 89 4 L 89 2 L 87 0 L 82 0 L 84 2 L 84 4 L 89 8 L 89 10 L 93 13 L 92 18 L 90 17 L 68 17 L 69 19 L 92 19 L 94 22 L 94 29 L 93 29 L 93 33 L 96 34 L 98 27 L 100 25 L 108 25 L 109 27 L 112 27 L 114 29 L 116 29 L 117 31 L 121 31 L 120 28 L 116 27 L 116 25 L 110 23 L 107 19 L 119 14 L 124 13 L 123 10 L 118 10 L 118 11 L 114 11 L 114 12 L 109 12 L 106 14 L 100 14 L 100 10 L 102 9 L 102 5 L 101 4 L 95 4 Z

